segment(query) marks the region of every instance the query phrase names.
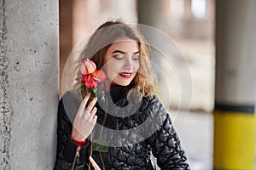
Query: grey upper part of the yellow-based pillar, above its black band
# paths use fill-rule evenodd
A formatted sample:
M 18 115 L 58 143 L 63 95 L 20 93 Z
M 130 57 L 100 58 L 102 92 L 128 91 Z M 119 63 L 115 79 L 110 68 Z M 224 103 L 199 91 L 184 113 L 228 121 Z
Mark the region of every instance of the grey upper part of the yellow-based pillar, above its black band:
M 217 1 L 216 48 L 218 102 L 255 104 L 256 1 Z

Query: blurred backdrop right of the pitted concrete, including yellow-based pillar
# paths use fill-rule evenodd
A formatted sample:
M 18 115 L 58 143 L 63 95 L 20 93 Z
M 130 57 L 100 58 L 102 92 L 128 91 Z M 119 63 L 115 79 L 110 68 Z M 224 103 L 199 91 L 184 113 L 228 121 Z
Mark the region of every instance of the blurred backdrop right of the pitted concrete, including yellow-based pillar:
M 253 169 L 255 9 L 255 0 L 62 0 L 60 80 L 72 49 L 103 22 L 152 26 L 172 40 L 148 37 L 160 46 L 154 55 L 164 50 L 160 99 L 192 169 Z

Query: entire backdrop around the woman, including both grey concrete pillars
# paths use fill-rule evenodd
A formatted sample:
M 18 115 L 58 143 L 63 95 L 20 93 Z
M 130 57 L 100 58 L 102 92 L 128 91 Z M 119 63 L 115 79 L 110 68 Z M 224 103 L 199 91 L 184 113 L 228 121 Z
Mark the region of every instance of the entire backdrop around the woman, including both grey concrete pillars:
M 255 169 L 255 16 L 256 0 L 0 0 L 0 169 L 52 169 L 68 56 L 116 19 L 148 26 L 191 168 Z

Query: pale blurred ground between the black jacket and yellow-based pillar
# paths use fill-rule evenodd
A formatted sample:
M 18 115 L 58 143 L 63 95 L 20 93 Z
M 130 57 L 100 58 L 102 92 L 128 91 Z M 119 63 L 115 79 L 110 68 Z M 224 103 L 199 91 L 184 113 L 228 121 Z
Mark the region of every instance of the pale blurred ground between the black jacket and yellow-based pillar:
M 193 170 L 212 169 L 212 114 L 203 112 L 171 111 L 183 148 Z

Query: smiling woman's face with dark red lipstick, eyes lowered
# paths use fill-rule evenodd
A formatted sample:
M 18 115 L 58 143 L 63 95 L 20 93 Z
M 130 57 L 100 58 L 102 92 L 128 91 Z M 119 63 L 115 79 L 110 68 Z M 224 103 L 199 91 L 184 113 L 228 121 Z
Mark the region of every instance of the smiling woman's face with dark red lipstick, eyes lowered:
M 127 86 L 136 77 L 140 67 L 138 43 L 128 37 L 114 42 L 107 51 L 105 71 L 108 79 L 121 86 Z

